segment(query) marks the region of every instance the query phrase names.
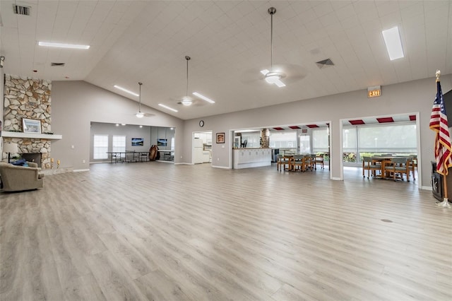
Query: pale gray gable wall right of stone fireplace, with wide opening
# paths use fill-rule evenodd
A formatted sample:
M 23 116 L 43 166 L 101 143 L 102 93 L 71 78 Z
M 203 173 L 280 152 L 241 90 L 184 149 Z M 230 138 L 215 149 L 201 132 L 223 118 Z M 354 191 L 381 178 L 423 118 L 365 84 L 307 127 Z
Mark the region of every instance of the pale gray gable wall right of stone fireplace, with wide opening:
M 143 124 L 175 129 L 176 153 L 182 152 L 184 126 L 181 119 L 141 106 L 153 117 L 136 118 L 138 103 L 84 81 L 52 82 L 52 131 L 63 135 L 52 141 L 52 158 L 61 160 L 61 167 L 89 169 L 91 122 Z M 191 141 L 191 138 L 188 139 Z M 74 148 L 71 148 L 74 146 Z M 83 163 L 83 160 L 85 163 Z

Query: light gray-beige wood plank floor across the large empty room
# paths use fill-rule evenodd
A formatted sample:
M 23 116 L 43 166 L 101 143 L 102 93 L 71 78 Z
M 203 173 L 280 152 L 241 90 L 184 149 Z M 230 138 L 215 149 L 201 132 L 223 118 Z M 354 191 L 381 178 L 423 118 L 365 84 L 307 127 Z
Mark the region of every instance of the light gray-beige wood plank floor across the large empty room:
M 452 209 L 415 182 L 328 178 L 157 162 L 46 176 L 0 194 L 0 300 L 452 300 Z

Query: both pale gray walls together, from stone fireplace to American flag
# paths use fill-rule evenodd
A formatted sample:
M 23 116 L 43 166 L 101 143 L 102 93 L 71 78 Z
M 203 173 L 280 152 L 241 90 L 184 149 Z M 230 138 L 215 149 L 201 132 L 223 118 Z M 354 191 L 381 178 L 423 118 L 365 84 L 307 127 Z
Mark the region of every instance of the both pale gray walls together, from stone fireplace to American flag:
M 452 75 L 441 76 L 444 93 L 452 89 Z M 435 78 L 383 86 L 381 97 L 367 98 L 367 89 L 301 100 L 283 105 L 261 107 L 255 110 L 220 114 L 182 121 L 165 113 L 143 118 L 144 125 L 167 126 L 176 129 L 175 163 L 191 163 L 191 137 L 197 131 L 225 133 L 225 143 L 213 139 L 213 167 L 232 167 L 231 131 L 234 129 L 290 126 L 328 122 L 331 133 L 331 177 L 342 179 L 342 125 L 341 119 L 387 116 L 392 114 L 419 114 L 420 170 L 422 186 L 430 185 L 430 161 L 434 160 L 434 131 L 429 129 L 430 113 L 436 95 Z M 133 113 L 136 102 L 83 81 L 56 81 L 52 83 L 52 130 L 63 139 L 52 143 L 52 157 L 61 158 L 62 167 L 88 169 L 90 122 L 125 122 L 138 124 Z M 198 125 L 203 119 L 205 125 Z M 233 140 L 233 139 L 232 139 Z M 76 146 L 73 150 L 71 145 Z M 85 158 L 87 163 L 82 164 Z

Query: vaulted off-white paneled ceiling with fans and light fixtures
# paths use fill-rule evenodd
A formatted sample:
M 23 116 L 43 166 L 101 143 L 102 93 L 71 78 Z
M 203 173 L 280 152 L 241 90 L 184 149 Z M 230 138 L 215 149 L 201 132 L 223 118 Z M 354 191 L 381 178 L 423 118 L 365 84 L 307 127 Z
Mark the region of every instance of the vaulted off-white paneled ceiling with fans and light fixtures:
M 13 13 L 30 6 L 30 16 Z M 287 73 L 278 88 L 263 80 L 273 64 Z M 83 80 L 181 119 L 452 73 L 452 1 L 0 1 L 4 72 L 52 81 Z M 2 23 L 2 25 L 1 25 Z M 398 25 L 405 58 L 390 61 L 381 30 Z M 37 41 L 88 44 L 50 49 Z M 186 94 L 189 55 L 195 105 Z M 335 66 L 320 69 L 330 58 Z M 51 63 L 65 66 L 51 66 Z M 174 107 L 174 113 L 159 103 Z

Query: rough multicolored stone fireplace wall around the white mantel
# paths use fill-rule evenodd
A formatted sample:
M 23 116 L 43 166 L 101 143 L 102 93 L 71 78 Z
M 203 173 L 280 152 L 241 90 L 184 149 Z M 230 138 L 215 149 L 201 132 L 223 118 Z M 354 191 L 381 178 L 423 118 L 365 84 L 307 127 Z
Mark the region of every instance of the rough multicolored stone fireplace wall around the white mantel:
M 23 131 L 22 119 L 29 118 L 40 120 L 42 134 L 50 134 L 51 91 L 52 81 L 5 74 L 3 130 Z M 4 137 L 4 141 L 18 143 L 20 153 L 41 153 L 42 168 L 50 168 L 50 140 Z

